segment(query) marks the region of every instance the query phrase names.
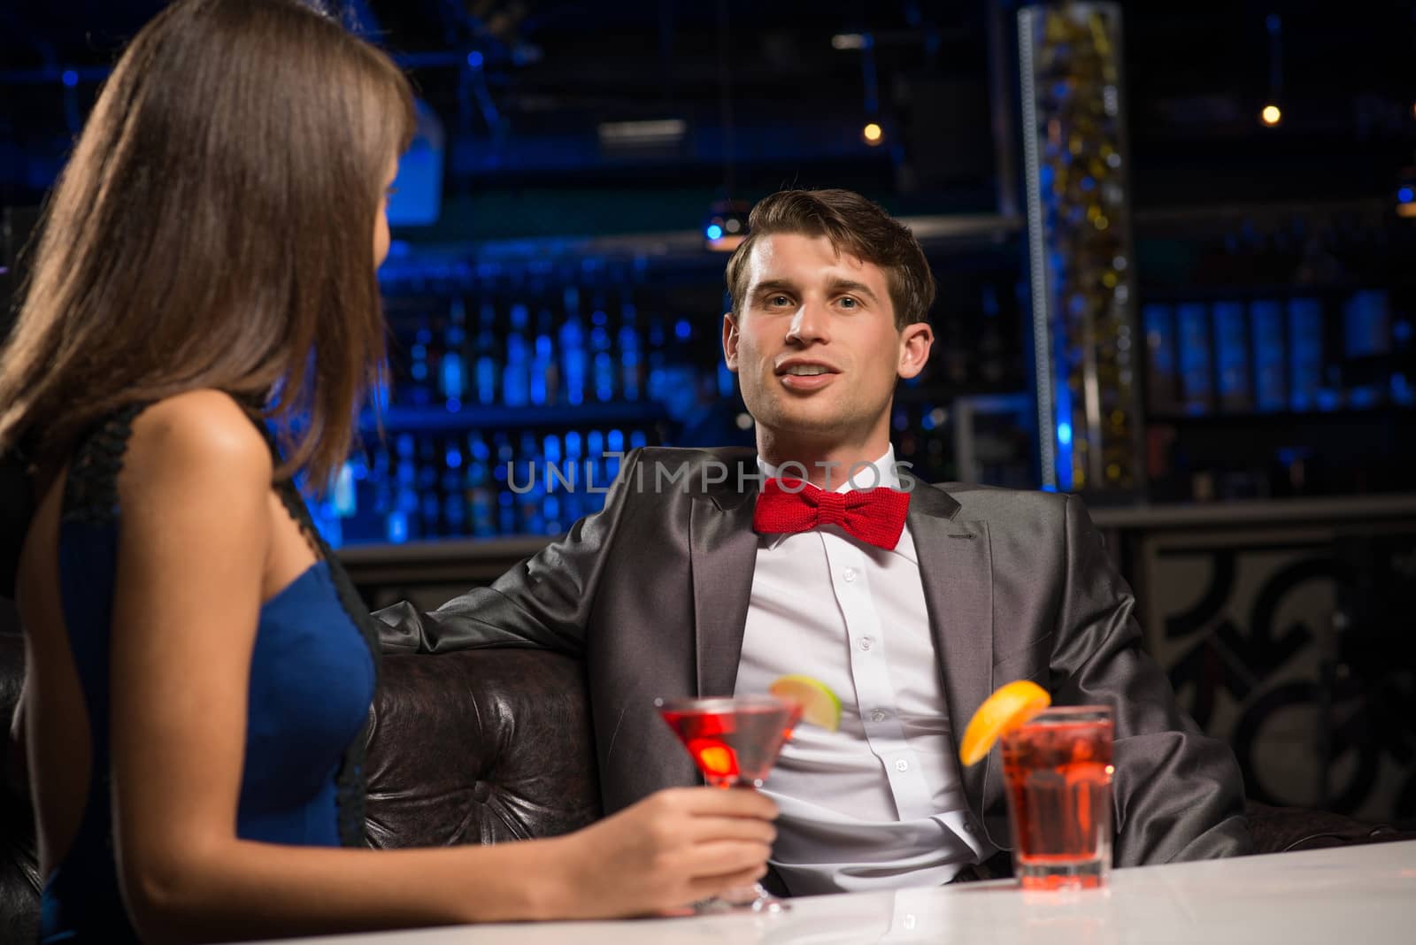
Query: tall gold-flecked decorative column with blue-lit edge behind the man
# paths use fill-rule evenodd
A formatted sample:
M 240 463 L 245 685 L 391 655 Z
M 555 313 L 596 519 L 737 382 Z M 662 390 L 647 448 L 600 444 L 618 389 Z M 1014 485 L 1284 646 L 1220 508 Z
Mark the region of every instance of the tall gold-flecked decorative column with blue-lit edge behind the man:
M 1018 13 L 1044 488 L 1143 489 L 1121 11 Z

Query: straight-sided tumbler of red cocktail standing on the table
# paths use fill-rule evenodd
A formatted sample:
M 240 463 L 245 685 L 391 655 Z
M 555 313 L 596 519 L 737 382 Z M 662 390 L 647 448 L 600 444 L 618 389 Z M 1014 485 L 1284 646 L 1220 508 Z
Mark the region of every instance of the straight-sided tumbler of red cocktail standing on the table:
M 1003 737 L 1024 888 L 1092 888 L 1112 866 L 1112 710 L 1055 707 Z

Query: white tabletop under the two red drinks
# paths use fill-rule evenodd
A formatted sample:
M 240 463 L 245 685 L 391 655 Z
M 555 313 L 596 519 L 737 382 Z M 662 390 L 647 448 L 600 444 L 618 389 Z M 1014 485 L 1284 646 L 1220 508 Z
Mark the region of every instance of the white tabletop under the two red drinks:
M 1416 942 L 1416 840 L 1114 870 L 1106 890 L 1011 881 L 792 900 L 780 915 L 537 922 L 285 939 L 302 945 L 1212 945 Z

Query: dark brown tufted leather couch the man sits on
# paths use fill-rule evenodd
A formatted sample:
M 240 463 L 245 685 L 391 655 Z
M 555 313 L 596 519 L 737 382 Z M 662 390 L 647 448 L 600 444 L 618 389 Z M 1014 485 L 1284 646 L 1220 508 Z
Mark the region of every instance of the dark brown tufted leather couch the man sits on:
M 20 638 L 0 634 L 0 720 L 14 712 L 23 672 Z M 552 836 L 599 816 L 583 673 L 572 659 L 530 649 L 388 656 L 372 712 L 374 846 Z M 17 768 L 7 764 L 0 779 L 0 942 L 34 941 L 38 920 L 34 822 Z M 1400 836 L 1315 811 L 1249 813 L 1259 852 Z

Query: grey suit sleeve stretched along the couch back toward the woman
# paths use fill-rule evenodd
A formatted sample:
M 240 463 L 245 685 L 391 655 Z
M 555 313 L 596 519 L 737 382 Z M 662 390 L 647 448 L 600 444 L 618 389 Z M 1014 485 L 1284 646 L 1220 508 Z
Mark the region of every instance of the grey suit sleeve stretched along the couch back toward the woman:
M 490 587 L 474 587 L 433 611 L 399 601 L 374 613 L 384 652 L 440 654 L 496 647 L 585 652 L 595 587 L 615 539 L 640 450 L 626 454 L 605 508 L 525 559 Z

